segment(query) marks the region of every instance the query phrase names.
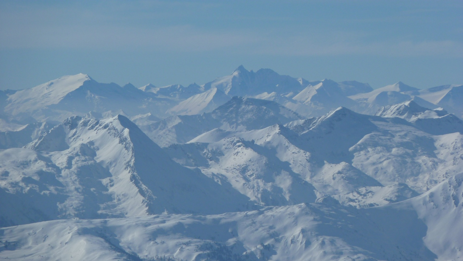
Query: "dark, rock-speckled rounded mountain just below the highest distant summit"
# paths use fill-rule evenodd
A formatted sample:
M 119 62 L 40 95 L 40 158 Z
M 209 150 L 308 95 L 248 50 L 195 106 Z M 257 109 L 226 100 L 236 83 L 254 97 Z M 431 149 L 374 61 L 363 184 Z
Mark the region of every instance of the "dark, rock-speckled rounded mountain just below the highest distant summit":
M 233 97 L 210 113 L 171 116 L 140 128 L 160 146 L 169 146 L 188 142 L 214 128 L 245 131 L 301 118 L 276 102 Z

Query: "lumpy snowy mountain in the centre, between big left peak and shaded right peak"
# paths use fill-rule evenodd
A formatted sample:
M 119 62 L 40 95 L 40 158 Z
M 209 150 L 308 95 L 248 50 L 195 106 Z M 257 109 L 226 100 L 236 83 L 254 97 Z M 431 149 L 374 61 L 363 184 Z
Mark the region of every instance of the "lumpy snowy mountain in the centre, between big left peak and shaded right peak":
M 198 167 L 208 176 L 225 178 L 221 182 L 232 184 L 263 205 L 295 204 L 303 198 L 302 202 L 313 202 L 312 191 L 322 197 L 365 186 L 382 186 L 348 163 L 330 164 L 319 160 L 316 153 L 300 149 L 298 135 L 282 125 L 233 133 L 215 129 L 206 134 L 199 139 L 210 140 L 208 144 L 191 141 L 165 150 L 183 166 Z M 313 187 L 305 185 L 306 182 Z M 265 194 L 271 197 L 264 198 Z

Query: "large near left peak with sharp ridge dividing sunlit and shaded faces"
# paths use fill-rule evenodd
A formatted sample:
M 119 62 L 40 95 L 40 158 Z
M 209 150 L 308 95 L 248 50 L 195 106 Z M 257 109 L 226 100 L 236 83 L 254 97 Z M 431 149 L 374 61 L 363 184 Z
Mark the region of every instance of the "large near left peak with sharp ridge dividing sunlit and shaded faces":
M 252 206 L 248 197 L 172 161 L 121 115 L 104 121 L 69 118 L 27 147 L 2 151 L 1 189 L 12 202 L 30 204 L 38 213 L 34 221 L 223 213 Z M 15 216 L 24 215 L 2 211 L 2 223 L 22 222 Z

